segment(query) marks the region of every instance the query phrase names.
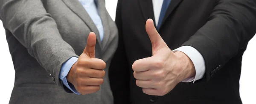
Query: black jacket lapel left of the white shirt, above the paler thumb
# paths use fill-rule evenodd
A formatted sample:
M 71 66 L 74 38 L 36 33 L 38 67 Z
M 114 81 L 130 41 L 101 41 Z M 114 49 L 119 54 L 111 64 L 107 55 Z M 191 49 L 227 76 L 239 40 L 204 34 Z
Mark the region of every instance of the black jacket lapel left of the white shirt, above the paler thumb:
M 153 19 L 154 25 L 156 26 L 152 0 L 138 0 L 138 1 L 140 4 L 143 17 L 145 19 L 145 22 L 147 19 Z

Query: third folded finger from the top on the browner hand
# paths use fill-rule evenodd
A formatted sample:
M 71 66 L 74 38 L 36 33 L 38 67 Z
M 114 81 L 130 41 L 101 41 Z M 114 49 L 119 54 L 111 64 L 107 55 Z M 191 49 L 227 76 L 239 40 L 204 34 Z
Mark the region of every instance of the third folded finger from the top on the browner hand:
M 81 85 L 102 85 L 103 79 L 102 78 L 86 78 L 81 79 Z

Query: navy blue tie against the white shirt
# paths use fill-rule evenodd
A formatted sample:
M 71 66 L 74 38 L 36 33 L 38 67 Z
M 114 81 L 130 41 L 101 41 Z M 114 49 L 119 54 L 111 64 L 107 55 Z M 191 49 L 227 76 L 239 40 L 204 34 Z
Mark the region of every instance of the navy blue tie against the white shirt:
M 171 0 L 163 0 L 163 5 L 162 5 L 162 9 L 161 9 L 161 12 L 160 12 L 160 16 L 159 16 L 159 20 L 158 20 L 158 24 L 157 24 L 157 30 L 160 29 L 160 26 L 163 22 L 163 18 L 166 14 L 166 10 L 169 6 L 169 4 L 171 3 Z

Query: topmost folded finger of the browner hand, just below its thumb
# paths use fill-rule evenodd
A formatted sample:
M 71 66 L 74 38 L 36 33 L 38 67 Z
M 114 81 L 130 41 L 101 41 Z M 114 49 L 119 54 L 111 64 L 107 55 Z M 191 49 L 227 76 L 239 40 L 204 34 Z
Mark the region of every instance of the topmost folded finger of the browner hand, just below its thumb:
M 99 70 L 103 70 L 104 68 L 106 68 L 106 63 L 98 58 L 81 59 L 77 61 L 77 65 Z

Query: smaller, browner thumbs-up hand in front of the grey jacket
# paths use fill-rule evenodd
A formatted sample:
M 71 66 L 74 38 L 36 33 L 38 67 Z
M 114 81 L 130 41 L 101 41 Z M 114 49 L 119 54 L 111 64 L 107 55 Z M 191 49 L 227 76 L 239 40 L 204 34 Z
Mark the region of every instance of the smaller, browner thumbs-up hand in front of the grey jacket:
M 95 58 L 95 45 L 96 35 L 91 32 L 84 52 L 67 74 L 68 82 L 72 83 L 82 95 L 97 92 L 105 76 L 103 69 L 106 67 L 106 63 Z

